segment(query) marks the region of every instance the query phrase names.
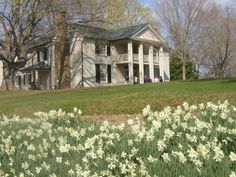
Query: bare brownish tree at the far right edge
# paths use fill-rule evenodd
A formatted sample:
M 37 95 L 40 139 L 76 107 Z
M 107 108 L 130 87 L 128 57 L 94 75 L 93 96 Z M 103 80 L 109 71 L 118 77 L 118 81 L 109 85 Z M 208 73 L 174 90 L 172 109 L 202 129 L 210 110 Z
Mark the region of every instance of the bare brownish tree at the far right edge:
M 228 7 L 215 4 L 205 12 L 203 30 L 197 52 L 202 53 L 202 65 L 208 76 L 230 76 L 236 67 L 235 25 Z M 200 52 L 199 52 L 200 51 Z

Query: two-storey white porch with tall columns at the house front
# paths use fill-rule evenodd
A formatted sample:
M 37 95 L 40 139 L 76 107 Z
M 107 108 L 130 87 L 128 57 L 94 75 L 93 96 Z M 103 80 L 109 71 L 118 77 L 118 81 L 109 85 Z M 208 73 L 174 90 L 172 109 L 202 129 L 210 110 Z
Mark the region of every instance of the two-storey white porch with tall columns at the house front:
M 160 43 L 140 40 L 123 40 L 114 45 L 118 56 L 117 64 L 122 68 L 124 77 L 129 84 L 145 83 L 148 78 L 154 81 L 162 77 L 169 78 L 169 54 Z

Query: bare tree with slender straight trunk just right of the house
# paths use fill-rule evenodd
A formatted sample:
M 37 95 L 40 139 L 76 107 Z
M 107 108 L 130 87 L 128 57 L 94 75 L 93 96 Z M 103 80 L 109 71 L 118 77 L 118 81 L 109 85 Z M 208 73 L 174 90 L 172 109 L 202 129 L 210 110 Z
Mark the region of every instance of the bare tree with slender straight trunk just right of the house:
M 205 0 L 161 1 L 157 14 L 168 32 L 170 44 L 179 54 L 182 62 L 182 79 L 186 79 L 186 63 L 191 57 L 195 33 L 201 25 Z

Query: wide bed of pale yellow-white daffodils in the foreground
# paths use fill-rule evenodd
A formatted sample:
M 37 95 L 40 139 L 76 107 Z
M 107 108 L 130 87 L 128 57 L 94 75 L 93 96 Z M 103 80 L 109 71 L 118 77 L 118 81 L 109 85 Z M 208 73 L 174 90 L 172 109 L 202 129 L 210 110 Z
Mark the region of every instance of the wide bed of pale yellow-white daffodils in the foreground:
M 123 124 L 81 111 L 0 117 L 0 176 L 236 176 L 236 107 L 227 101 Z

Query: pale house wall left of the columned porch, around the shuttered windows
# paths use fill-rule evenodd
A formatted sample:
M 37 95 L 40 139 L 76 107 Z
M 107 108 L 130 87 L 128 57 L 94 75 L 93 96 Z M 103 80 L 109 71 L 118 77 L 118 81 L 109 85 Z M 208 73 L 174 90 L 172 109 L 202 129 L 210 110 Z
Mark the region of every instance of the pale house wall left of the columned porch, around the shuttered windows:
M 82 42 L 83 41 L 83 42 Z M 111 56 L 98 55 L 95 53 L 95 40 L 80 39 L 75 42 L 72 41 L 71 47 L 71 87 L 82 86 L 82 67 L 83 67 L 83 86 L 96 87 L 106 85 L 124 84 L 125 81 L 125 67 L 124 65 L 117 65 L 119 58 L 118 51 L 113 43 L 110 44 Z M 82 62 L 82 48 L 83 48 L 83 62 Z M 118 48 L 120 49 L 120 48 Z M 123 50 L 123 49 L 121 49 Z M 101 81 L 96 83 L 96 68 L 95 64 L 111 65 L 112 83 Z

